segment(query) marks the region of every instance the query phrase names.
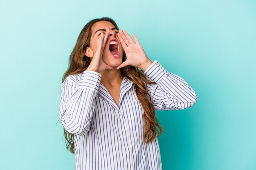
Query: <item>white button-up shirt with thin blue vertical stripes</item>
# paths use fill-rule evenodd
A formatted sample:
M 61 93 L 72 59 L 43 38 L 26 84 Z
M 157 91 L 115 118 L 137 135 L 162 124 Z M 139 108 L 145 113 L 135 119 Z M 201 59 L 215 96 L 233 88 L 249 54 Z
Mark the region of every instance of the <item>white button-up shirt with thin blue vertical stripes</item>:
M 146 83 L 155 110 L 186 109 L 198 100 L 183 78 L 157 60 L 144 74 L 156 82 Z M 85 70 L 61 85 L 59 117 L 74 134 L 75 170 L 162 170 L 157 137 L 142 140 L 143 108 L 134 84 L 124 76 L 118 107 L 100 80 L 101 74 Z

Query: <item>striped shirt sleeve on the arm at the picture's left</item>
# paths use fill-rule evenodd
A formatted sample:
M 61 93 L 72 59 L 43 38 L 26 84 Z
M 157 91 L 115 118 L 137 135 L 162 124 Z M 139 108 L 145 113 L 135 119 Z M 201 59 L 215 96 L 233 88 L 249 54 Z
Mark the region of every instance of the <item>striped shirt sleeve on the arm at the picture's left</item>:
M 89 131 L 100 80 L 101 74 L 85 70 L 81 80 L 69 75 L 61 84 L 59 117 L 69 133 L 82 136 Z

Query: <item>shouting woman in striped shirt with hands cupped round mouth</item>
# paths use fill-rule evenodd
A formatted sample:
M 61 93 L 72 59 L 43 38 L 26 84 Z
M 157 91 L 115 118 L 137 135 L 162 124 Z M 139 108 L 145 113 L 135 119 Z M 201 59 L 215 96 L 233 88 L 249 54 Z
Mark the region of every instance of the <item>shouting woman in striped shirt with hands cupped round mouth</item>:
M 155 110 L 186 109 L 198 100 L 132 37 L 109 17 L 94 19 L 70 55 L 59 116 L 76 170 L 161 170 Z

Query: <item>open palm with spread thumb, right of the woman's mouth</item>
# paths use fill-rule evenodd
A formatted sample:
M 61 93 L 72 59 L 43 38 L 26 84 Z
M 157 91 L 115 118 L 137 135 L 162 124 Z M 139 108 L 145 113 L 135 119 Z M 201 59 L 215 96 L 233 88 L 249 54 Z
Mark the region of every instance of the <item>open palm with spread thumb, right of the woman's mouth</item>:
M 126 65 L 132 65 L 145 71 L 146 68 L 153 63 L 144 52 L 144 49 L 139 44 L 139 40 L 134 34 L 132 34 L 132 37 L 135 39 L 135 42 L 125 30 L 121 31 L 121 29 L 119 29 L 117 36 L 126 53 L 126 61 L 117 66 L 117 70 Z

